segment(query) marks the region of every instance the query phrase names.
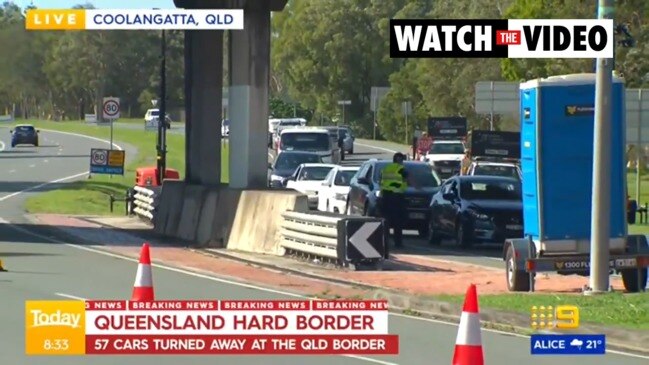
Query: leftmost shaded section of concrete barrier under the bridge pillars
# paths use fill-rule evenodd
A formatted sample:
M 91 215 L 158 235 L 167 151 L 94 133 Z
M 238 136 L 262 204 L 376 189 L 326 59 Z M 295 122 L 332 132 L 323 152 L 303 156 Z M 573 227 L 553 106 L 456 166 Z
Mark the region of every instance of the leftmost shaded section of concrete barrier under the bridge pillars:
M 175 237 L 182 213 L 184 191 L 184 181 L 164 180 L 160 203 L 153 219 L 154 232 Z

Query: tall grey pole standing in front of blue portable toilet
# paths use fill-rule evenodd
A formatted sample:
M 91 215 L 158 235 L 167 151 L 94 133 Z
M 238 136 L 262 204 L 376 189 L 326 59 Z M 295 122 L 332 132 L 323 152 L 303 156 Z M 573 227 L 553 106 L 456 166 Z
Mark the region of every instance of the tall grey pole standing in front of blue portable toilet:
M 615 0 L 599 0 L 599 19 L 613 19 Z M 611 40 L 615 42 L 615 40 Z M 593 196 L 590 238 L 590 290 L 609 290 L 609 241 L 611 239 L 611 114 L 614 58 L 597 59 L 595 83 L 595 134 L 593 143 Z

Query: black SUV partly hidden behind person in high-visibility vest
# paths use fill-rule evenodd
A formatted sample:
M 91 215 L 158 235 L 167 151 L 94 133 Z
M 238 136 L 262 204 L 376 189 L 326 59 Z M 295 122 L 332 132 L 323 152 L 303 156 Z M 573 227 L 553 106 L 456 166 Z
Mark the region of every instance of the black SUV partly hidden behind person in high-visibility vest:
M 381 170 L 391 163 L 388 160 L 368 160 L 359 168 L 351 180 L 347 197 L 347 214 L 362 214 L 364 216 L 380 216 L 378 204 L 381 200 L 379 176 Z M 437 172 L 427 163 L 421 161 L 405 161 L 404 167 L 417 187 L 408 187 L 405 192 L 408 219 L 404 229 L 414 229 L 420 236 L 428 236 L 428 220 L 430 201 L 441 185 Z

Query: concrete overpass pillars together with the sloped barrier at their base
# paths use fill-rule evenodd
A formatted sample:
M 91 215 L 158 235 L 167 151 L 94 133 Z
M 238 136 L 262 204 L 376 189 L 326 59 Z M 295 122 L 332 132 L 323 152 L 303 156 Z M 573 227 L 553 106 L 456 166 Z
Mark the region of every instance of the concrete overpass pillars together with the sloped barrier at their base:
M 154 219 L 162 235 L 200 246 L 283 255 L 280 212 L 306 197 L 270 191 L 268 96 L 271 12 L 287 0 L 174 0 L 185 9 L 243 9 L 244 29 L 185 31 L 185 177 L 165 180 Z M 229 185 L 221 183 L 223 66 L 229 63 Z

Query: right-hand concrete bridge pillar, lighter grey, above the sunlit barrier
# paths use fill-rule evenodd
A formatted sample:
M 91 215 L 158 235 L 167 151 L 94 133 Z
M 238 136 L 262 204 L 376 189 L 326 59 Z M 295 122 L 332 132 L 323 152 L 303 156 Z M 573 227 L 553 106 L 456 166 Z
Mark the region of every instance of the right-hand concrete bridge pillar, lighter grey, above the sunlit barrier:
M 230 187 L 266 187 L 268 174 L 268 94 L 270 6 L 248 3 L 244 29 L 229 33 Z

